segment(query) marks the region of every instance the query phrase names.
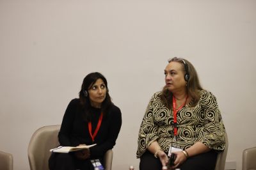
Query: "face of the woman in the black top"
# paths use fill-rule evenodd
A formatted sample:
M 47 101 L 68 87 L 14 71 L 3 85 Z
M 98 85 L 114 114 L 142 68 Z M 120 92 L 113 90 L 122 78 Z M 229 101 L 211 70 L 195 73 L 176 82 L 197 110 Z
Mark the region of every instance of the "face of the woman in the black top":
M 97 81 L 92 84 L 92 86 L 88 89 L 88 93 L 91 105 L 93 107 L 101 107 L 102 102 L 106 98 L 106 91 L 106 85 L 102 79 L 97 79 Z

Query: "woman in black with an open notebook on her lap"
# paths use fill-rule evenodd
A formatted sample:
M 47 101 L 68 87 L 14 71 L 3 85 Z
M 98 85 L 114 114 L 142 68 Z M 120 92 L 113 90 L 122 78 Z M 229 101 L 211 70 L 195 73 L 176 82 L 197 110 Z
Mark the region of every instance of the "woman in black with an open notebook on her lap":
M 121 111 L 111 102 L 106 78 L 98 72 L 84 77 L 79 98 L 71 100 L 58 134 L 61 146 L 96 144 L 72 153 L 52 153 L 49 168 L 58 170 L 94 169 L 99 159 L 115 146 L 122 125 Z

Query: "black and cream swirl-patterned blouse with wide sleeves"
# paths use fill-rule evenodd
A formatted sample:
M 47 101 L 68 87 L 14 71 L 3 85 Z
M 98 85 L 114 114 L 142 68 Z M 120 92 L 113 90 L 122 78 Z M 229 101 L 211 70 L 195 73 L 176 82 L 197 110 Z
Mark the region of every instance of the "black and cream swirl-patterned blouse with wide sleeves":
M 176 144 L 186 150 L 199 141 L 221 152 L 225 148 L 225 127 L 216 97 L 206 90 L 200 91 L 200 94 L 200 100 L 195 107 L 188 104 L 177 112 Z M 151 98 L 141 122 L 137 158 L 140 158 L 154 141 L 168 153 L 172 139 L 173 111 L 166 107 L 163 93 L 159 91 Z

